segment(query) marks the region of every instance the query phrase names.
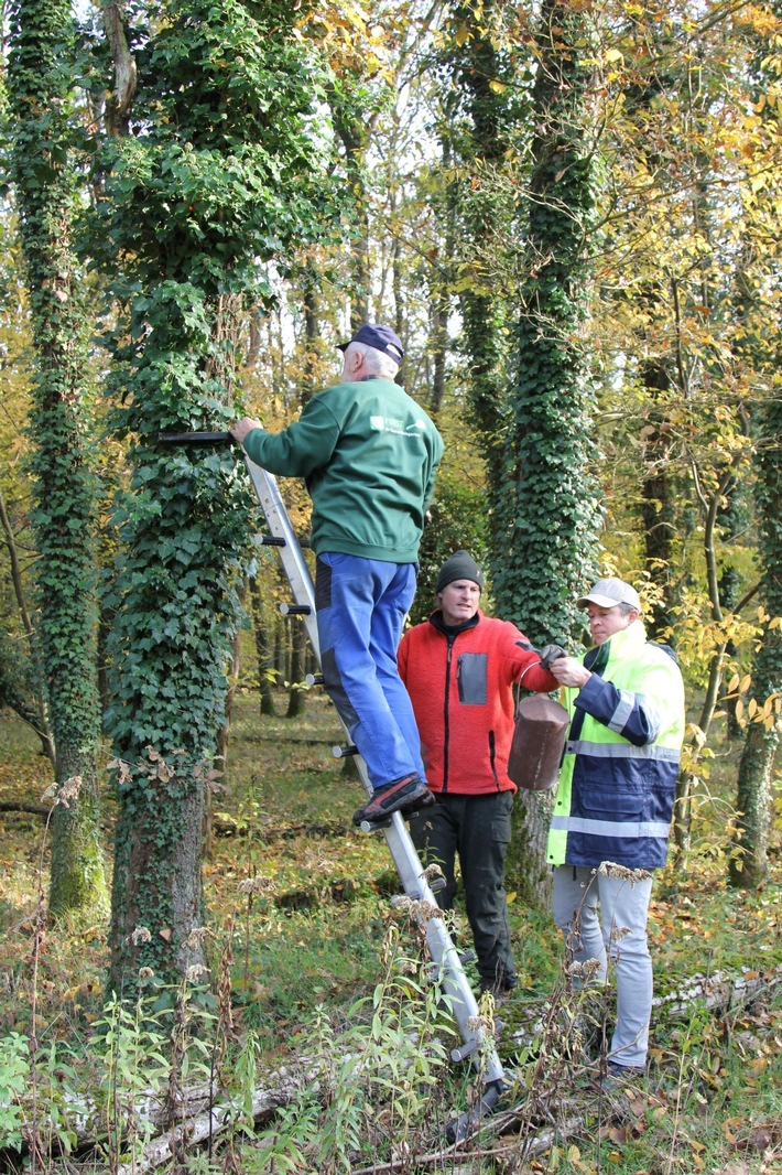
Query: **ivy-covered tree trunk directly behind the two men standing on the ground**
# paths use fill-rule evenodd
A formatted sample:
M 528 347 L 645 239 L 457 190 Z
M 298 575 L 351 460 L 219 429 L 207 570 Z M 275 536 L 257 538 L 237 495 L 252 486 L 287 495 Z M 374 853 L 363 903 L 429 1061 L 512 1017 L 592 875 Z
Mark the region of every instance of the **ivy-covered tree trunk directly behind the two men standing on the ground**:
M 594 391 L 580 341 L 589 291 L 595 177 L 589 149 L 588 9 L 546 0 L 533 92 L 532 175 L 525 235 L 512 419 L 490 468 L 496 517 L 493 586 L 501 616 L 540 644 L 578 652 L 575 600 L 593 573 L 600 522 Z M 508 885 L 531 904 L 548 895 L 550 798 L 519 793 Z

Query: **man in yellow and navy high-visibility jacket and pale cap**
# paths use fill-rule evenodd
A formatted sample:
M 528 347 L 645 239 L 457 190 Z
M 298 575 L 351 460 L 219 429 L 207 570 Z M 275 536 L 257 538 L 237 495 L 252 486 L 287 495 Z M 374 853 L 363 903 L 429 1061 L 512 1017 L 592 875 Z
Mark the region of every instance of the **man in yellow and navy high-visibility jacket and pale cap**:
M 641 600 L 601 579 L 579 600 L 593 647 L 560 657 L 571 727 L 548 833 L 553 915 L 584 982 L 614 964 L 616 1025 L 604 1083 L 646 1072 L 652 1015 L 647 918 L 652 870 L 666 864 L 685 731 L 685 692 L 673 652 L 646 639 Z M 596 872 L 595 872 L 596 871 Z

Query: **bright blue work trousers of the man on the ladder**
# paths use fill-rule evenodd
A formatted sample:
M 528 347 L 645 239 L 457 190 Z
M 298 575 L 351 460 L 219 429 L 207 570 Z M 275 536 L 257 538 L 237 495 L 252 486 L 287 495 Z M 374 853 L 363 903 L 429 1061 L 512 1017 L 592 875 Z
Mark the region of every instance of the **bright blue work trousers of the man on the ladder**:
M 315 606 L 323 684 L 366 764 L 372 787 L 425 779 L 397 646 L 416 595 L 413 563 L 318 555 Z

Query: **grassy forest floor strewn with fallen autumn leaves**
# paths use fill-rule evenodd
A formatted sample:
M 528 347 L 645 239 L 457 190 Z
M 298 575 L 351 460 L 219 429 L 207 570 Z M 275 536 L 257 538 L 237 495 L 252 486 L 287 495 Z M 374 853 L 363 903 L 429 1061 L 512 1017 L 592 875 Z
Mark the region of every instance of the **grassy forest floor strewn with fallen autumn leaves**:
M 279 714 L 285 707 L 281 693 Z M 13 1033 L 34 1033 L 42 1047 L 86 1036 L 101 1016 L 107 921 L 50 926 L 34 952 L 48 853 L 46 817 L 34 808 L 47 808 L 41 797 L 50 773 L 26 728 L 7 712 L 0 714 L 0 1042 Z M 234 1030 L 238 1035 L 251 1029 L 265 1058 L 306 1045 L 316 1006 L 332 1023 L 348 1023 L 357 1001 L 376 989 L 391 938 L 402 936 L 411 953 L 419 947 L 414 928 L 399 927 L 389 901 L 399 886 L 383 837 L 357 832 L 351 824 L 364 792 L 331 754 L 339 741 L 333 711 L 316 693 L 308 694 L 304 714 L 292 720 L 261 717 L 252 692 L 237 698 L 224 790 L 214 801 L 204 899 L 215 971 L 230 953 Z M 483 1164 L 473 1159 L 474 1167 L 437 1170 L 782 1170 L 782 831 L 777 819 L 769 884 L 757 893 L 730 888 L 726 854 L 736 757 L 737 748 L 717 752 L 710 794 L 697 799 L 687 866 L 669 865 L 658 875 L 649 919 L 655 994 L 665 999 L 696 976 L 720 973 L 757 981 L 761 995 L 712 1015 L 695 1005 L 679 1020 L 659 1012 L 650 1060 L 654 1093 L 629 1101 L 619 1119 L 607 1119 L 596 1132 L 592 1123 L 577 1126 L 569 1135 L 559 1123 L 559 1143 L 555 1129 L 542 1157 L 528 1152 L 526 1166 L 518 1155 L 515 1166 L 493 1155 Z M 109 795 L 105 820 L 110 845 Z M 250 879 L 256 881 L 252 893 L 243 885 Z M 532 913 L 514 900 L 508 908 L 520 983 L 499 1009 L 505 1027 L 498 1049 L 514 1073 L 527 1067 L 530 1082 L 535 1065 L 540 1070 L 541 1055 L 520 1049 L 513 1028 L 527 1014 L 551 1012 L 552 992 L 561 991 L 561 949 L 546 913 Z M 452 932 L 460 946 L 470 945 L 458 912 Z M 567 1075 L 566 1053 L 566 1047 L 554 1047 L 542 1058 L 550 1076 Z M 1 1068 L 0 1060 L 0 1076 Z M 575 1074 L 577 1087 L 584 1082 L 582 1066 L 567 1073 Z M 562 1104 L 572 1110 L 569 1094 L 559 1089 Z M 268 1162 L 236 1169 L 308 1170 Z M 343 1169 L 311 1162 L 312 1171 Z M 432 1168 L 397 1163 L 366 1169 Z

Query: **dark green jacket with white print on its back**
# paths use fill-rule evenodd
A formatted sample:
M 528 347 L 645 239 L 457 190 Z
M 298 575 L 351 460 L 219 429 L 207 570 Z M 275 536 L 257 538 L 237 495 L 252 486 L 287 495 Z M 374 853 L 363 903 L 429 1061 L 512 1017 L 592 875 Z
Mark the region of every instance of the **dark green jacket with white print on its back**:
M 384 563 L 414 563 L 443 441 L 390 380 L 326 388 L 282 432 L 244 439 L 257 465 L 303 477 L 312 498 L 312 548 Z

